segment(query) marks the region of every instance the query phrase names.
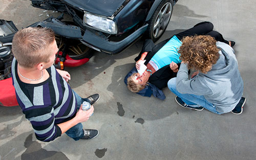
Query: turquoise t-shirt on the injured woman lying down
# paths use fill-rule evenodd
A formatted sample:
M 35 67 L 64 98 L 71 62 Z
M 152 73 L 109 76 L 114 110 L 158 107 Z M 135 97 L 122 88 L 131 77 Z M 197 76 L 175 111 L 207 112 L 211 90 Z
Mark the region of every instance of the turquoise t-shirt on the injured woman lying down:
M 158 69 L 165 65 L 169 65 L 172 61 L 175 63 L 180 63 L 180 54 L 178 54 L 179 47 L 182 42 L 173 36 L 164 46 L 152 57 L 153 61 Z

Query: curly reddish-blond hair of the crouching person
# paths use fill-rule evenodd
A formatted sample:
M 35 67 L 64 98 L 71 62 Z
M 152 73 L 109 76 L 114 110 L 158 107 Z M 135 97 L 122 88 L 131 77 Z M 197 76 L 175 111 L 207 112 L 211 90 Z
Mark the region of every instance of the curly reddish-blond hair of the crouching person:
M 220 57 L 216 42 L 209 35 L 184 37 L 178 51 L 180 59 L 187 64 L 188 69 L 206 74 Z

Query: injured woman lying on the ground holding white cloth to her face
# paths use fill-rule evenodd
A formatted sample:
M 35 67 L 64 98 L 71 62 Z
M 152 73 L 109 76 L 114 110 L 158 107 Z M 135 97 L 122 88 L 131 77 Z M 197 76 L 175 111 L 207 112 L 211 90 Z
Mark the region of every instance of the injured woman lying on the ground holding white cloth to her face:
M 155 97 L 164 100 L 165 95 L 162 88 L 167 86 L 169 79 L 177 76 L 179 70 L 181 60 L 178 50 L 183 37 L 210 35 L 217 41 L 234 45 L 232 44 L 233 41 L 227 41 L 220 33 L 212 31 L 213 28 L 211 22 L 204 21 L 157 45 L 151 39 L 146 39 L 142 51 L 135 58 L 135 67 L 124 78 L 127 88 L 141 96 L 151 97 L 153 94 Z M 141 71 L 142 68 L 144 68 L 143 71 Z

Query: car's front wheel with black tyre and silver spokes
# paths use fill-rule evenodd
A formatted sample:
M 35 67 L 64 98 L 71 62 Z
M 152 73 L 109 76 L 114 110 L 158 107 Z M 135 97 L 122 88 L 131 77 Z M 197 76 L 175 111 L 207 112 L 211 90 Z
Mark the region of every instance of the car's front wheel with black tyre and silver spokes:
M 145 32 L 147 38 L 157 41 L 166 30 L 170 17 L 173 13 L 173 1 L 162 1 L 148 21 L 148 27 Z

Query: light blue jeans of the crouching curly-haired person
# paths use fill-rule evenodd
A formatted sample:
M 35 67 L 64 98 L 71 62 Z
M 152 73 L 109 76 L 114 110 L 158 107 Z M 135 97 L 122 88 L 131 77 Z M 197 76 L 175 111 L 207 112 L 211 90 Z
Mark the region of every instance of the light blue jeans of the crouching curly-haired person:
M 214 104 L 208 102 L 204 96 L 199 96 L 199 95 L 193 95 L 193 94 L 181 94 L 178 92 L 178 90 L 176 89 L 176 77 L 172 78 L 168 81 L 168 88 L 170 89 L 170 91 L 172 91 L 176 96 L 178 96 L 179 98 L 182 99 L 183 102 L 185 102 L 187 105 L 191 106 L 191 107 L 199 107 L 202 106 L 205 109 L 217 113 L 217 114 L 221 114 L 220 112 L 218 112 L 216 110 L 216 107 Z

